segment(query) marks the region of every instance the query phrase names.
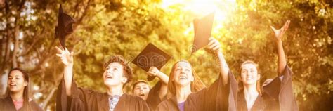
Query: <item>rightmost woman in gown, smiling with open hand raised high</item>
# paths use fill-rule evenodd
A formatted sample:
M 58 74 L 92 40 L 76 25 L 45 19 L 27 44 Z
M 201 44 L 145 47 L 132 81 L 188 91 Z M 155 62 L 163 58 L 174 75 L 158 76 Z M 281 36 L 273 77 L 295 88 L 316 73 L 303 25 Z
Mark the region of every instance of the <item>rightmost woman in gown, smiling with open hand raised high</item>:
M 241 65 L 240 89 L 237 92 L 237 110 L 299 110 L 292 91 L 292 70 L 287 66 L 282 36 L 289 27 L 288 20 L 280 30 L 271 27 L 278 46 L 278 77 L 268 79 L 260 86 L 258 65 L 247 60 Z M 228 72 L 226 68 L 224 72 Z M 232 85 L 235 88 L 237 85 Z M 262 87 L 262 88 L 261 88 Z

